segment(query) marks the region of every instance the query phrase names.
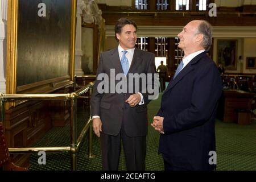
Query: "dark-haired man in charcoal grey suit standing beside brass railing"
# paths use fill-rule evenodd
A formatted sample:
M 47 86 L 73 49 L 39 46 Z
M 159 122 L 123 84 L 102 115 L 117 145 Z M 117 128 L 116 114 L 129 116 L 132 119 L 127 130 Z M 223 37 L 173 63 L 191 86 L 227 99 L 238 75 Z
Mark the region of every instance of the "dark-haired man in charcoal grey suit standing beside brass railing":
M 144 170 L 151 98 L 147 89 L 155 84 L 158 92 L 155 56 L 135 48 L 137 25 L 133 20 L 119 19 L 115 38 L 118 48 L 100 55 L 91 102 L 93 130 L 100 137 L 104 170 L 118 170 L 121 139 L 127 170 Z

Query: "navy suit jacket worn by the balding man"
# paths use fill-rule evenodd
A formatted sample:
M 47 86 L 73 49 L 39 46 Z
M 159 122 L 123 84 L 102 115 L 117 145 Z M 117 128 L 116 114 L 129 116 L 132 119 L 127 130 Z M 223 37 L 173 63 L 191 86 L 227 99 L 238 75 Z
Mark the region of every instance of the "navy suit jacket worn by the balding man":
M 210 170 L 215 151 L 214 120 L 222 80 L 205 52 L 192 59 L 170 82 L 157 115 L 164 117 L 159 152 L 168 163 L 189 170 Z

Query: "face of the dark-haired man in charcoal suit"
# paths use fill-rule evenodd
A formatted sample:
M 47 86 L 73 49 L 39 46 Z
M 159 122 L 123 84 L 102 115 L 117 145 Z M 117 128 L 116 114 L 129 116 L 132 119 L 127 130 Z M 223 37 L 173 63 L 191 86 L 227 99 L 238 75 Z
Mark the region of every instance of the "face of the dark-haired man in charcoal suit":
M 135 47 L 137 40 L 137 30 L 132 24 L 126 24 L 122 27 L 121 33 L 116 34 L 119 44 L 123 49 L 131 49 Z

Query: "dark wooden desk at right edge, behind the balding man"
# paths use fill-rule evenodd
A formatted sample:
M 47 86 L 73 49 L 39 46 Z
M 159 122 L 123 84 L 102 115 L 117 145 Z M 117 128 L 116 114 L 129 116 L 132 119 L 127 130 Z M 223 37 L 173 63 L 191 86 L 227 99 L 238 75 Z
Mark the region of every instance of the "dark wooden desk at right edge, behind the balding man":
M 239 112 L 236 110 L 250 110 L 253 97 L 254 93 L 244 92 L 242 90 L 223 90 L 218 104 L 217 118 L 223 122 L 238 122 Z M 248 115 L 250 116 L 250 113 L 247 113 L 245 116 L 247 117 Z M 250 118 L 247 117 L 246 119 Z

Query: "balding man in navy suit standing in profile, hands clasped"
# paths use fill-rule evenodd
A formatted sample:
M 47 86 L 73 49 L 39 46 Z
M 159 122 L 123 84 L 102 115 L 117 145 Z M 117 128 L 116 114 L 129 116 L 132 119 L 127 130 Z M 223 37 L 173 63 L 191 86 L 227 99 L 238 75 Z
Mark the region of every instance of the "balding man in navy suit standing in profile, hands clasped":
M 218 68 L 205 53 L 212 44 L 212 26 L 193 20 L 178 37 L 185 56 L 151 126 L 160 132 L 159 152 L 166 170 L 212 170 L 214 121 L 222 93 Z

